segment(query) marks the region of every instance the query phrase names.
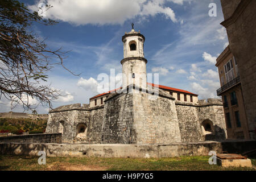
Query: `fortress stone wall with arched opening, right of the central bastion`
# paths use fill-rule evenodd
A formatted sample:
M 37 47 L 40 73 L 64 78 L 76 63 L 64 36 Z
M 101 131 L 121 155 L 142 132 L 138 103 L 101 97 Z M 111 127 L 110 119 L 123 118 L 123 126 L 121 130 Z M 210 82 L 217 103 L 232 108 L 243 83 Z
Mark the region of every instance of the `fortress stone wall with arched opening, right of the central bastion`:
M 221 100 L 200 100 L 198 104 L 175 101 L 182 142 L 225 140 L 226 124 Z M 211 131 L 205 131 L 204 123 Z

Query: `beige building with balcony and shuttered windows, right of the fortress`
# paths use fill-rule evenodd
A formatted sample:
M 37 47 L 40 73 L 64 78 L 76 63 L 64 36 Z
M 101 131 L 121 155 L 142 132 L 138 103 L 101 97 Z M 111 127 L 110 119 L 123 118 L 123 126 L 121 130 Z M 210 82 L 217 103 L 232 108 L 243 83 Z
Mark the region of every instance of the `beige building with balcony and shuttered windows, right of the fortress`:
M 216 67 L 221 83 L 217 95 L 222 97 L 228 138 L 249 139 L 238 65 L 229 46 L 218 56 Z

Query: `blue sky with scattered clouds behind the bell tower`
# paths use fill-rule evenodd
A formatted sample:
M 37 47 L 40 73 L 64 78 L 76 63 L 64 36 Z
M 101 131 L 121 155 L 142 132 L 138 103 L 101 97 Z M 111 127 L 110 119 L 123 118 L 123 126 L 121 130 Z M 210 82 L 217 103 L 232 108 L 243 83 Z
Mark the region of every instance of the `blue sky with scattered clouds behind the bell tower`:
M 74 0 L 22 1 L 31 10 L 40 2 L 53 7 L 46 18 L 57 20 L 54 26 L 34 24 L 32 31 L 45 39 L 49 48 L 71 51 L 64 65 L 80 76 L 73 76 L 56 65 L 48 73 L 53 88 L 67 96 L 53 107 L 73 103 L 88 104 L 97 93 L 97 76 L 110 75 L 110 68 L 121 72 L 121 37 L 140 30 L 146 38 L 144 56 L 147 73 L 159 73 L 159 84 L 188 90 L 199 98 L 213 98 L 220 87 L 216 57 L 228 45 L 220 0 Z M 210 17 L 209 3 L 216 3 L 217 16 Z M 1 101 L 0 101 L 1 102 Z M 10 111 L 2 101 L 0 111 Z M 38 107 L 38 113 L 48 108 Z M 16 107 L 14 111 L 23 111 Z

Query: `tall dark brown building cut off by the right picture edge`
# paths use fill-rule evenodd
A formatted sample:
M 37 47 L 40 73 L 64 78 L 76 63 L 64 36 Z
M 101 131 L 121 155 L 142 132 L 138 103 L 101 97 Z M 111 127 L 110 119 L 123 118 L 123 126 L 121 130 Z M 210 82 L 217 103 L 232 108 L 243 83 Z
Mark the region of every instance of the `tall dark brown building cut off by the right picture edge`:
M 229 48 L 240 73 L 250 139 L 256 139 L 256 1 L 221 0 L 221 6 L 221 25 L 226 28 Z

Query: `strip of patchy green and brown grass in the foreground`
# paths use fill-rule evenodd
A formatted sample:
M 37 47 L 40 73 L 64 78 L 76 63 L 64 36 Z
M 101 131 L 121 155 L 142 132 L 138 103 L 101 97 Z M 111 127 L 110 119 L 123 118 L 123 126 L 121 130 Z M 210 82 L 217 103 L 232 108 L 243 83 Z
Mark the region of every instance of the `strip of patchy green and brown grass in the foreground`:
M 181 156 L 177 158 L 46 158 L 46 165 L 38 164 L 37 156 L 0 156 L 0 170 L 254 170 L 256 159 L 251 158 L 252 168 L 224 168 L 208 164 L 209 156 Z

